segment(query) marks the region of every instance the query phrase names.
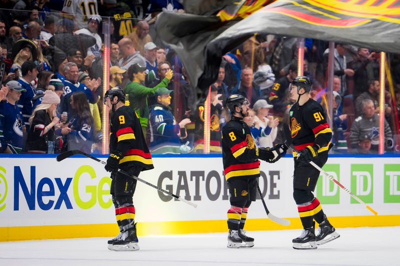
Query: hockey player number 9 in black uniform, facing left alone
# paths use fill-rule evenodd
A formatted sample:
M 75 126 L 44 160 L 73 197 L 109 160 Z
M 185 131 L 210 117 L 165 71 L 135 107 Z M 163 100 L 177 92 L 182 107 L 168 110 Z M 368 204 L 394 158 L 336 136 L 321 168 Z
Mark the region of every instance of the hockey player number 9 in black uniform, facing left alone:
M 139 250 L 134 223 L 133 193 L 136 179 L 117 172 L 118 168 L 138 177 L 141 171 L 153 169 L 140 121 L 131 108 L 125 106 L 125 93 L 120 87 L 106 91 L 104 104 L 111 110 L 109 150 L 105 170 L 111 172 L 112 203 L 120 233 L 108 241 L 113 251 Z

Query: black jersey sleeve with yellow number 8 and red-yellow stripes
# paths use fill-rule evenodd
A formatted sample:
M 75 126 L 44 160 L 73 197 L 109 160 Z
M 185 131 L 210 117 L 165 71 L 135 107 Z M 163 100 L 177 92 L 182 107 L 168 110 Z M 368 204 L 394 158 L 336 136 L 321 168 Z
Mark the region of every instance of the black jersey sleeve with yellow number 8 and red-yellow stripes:
M 222 133 L 222 139 L 225 139 L 225 145 L 237 161 L 246 163 L 258 158 L 251 134 L 243 134 L 242 128 L 228 126 Z

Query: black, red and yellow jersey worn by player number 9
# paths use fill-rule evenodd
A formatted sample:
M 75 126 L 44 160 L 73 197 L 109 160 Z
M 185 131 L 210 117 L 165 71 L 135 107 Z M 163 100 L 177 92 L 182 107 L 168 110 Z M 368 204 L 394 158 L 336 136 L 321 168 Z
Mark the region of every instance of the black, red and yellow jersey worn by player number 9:
M 123 154 L 119 161 L 120 167 L 136 165 L 142 171 L 154 168 L 139 118 L 128 106 L 119 107 L 111 115 L 109 150 Z

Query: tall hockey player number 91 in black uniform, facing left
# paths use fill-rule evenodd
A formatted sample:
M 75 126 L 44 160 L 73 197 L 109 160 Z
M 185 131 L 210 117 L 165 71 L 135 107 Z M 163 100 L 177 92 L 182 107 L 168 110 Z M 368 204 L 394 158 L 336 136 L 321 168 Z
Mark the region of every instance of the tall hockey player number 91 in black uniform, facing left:
M 316 249 L 339 237 L 329 223 L 317 198 L 312 194 L 319 177 L 319 171 L 310 161 L 322 168 L 332 147 L 332 130 L 325 120 L 325 113 L 319 103 L 310 98 L 312 82 L 306 76 L 298 76 L 290 84 L 290 96 L 296 103 L 290 108 L 291 139 L 293 152 L 293 198 L 304 228 L 298 238 L 293 239 L 294 249 Z M 318 230 L 315 232 L 315 220 Z

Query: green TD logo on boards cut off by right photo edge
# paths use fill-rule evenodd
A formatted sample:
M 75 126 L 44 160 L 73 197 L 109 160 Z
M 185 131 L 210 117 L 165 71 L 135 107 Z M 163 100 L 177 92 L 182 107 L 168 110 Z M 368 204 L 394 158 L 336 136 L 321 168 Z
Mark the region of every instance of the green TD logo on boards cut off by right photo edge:
M 400 165 L 384 165 L 384 203 L 400 203 Z

